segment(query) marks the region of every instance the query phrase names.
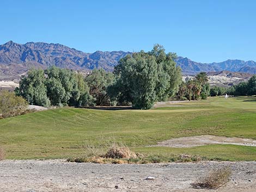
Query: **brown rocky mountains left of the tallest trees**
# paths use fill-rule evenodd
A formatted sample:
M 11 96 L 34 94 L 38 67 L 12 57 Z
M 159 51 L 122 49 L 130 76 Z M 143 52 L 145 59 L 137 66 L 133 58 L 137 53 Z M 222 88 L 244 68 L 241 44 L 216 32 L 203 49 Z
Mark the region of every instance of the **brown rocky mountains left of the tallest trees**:
M 112 71 L 120 58 L 131 52 L 112 51 L 84 53 L 60 44 L 9 41 L 0 45 L 0 80 L 13 80 L 31 67 L 46 69 L 55 65 L 73 70 L 105 69 Z

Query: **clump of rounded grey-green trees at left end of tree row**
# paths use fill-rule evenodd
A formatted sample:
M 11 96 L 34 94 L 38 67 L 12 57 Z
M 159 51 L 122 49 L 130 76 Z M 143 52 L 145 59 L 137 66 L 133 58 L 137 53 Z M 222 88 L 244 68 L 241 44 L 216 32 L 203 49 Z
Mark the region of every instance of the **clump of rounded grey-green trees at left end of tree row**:
M 84 78 L 68 69 L 50 67 L 47 70 L 31 70 L 22 77 L 16 95 L 24 97 L 30 104 L 48 107 L 76 106 L 93 104 L 89 88 Z

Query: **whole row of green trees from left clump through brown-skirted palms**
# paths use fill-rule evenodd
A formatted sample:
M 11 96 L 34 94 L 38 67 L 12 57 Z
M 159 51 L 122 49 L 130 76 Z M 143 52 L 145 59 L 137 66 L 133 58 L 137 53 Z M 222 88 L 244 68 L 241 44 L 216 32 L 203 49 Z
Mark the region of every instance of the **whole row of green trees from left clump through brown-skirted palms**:
M 155 102 L 175 96 L 206 99 L 210 91 L 206 73 L 184 83 L 175 58 L 175 53 L 166 53 L 161 45 L 155 45 L 150 52 L 136 52 L 120 59 L 113 72 L 93 70 L 84 77 L 54 66 L 33 69 L 21 78 L 15 93 L 29 104 L 44 107 L 131 105 L 149 109 Z

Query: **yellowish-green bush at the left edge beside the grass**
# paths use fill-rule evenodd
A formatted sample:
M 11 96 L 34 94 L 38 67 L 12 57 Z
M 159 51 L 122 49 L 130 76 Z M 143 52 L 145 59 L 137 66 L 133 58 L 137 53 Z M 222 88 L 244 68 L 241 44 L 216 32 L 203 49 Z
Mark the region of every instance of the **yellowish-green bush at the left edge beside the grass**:
M 3 118 L 26 113 L 28 103 L 14 92 L 0 92 L 0 116 Z

